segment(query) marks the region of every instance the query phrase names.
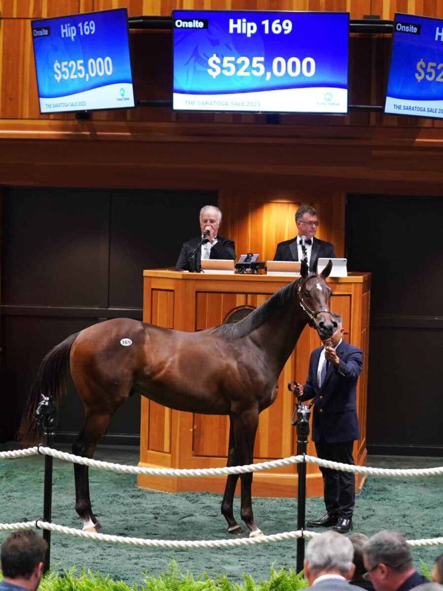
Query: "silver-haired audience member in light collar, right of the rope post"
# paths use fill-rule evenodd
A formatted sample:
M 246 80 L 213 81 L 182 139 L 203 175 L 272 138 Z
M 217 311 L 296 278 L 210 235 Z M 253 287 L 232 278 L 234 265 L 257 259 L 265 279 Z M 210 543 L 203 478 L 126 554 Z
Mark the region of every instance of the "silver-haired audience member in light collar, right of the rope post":
M 350 540 L 335 531 L 326 531 L 309 540 L 305 554 L 308 589 L 350 591 L 348 580 L 354 574 L 354 547 Z M 306 591 L 306 590 L 305 590 Z

